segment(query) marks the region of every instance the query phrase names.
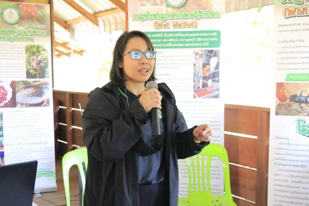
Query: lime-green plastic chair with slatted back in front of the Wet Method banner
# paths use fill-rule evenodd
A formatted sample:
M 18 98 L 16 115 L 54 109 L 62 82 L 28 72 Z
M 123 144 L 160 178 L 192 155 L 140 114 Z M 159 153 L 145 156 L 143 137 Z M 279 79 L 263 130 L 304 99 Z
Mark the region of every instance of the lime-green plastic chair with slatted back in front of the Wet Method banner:
M 205 178 L 205 156 L 207 158 L 206 165 L 206 178 Z M 196 166 L 195 166 L 195 158 Z M 200 165 L 200 157 L 202 164 Z M 223 174 L 224 174 L 224 188 L 225 194 L 221 196 L 213 196 L 210 188 L 210 163 L 212 157 L 218 157 L 222 161 L 223 166 Z M 191 159 L 191 161 L 190 161 Z M 201 153 L 185 159 L 186 166 L 188 170 L 189 177 L 189 186 L 188 186 L 188 198 L 179 197 L 179 206 L 237 206 L 233 201 L 233 197 L 231 194 L 231 183 L 230 183 L 230 169 L 229 169 L 229 160 L 227 156 L 226 149 L 222 145 L 210 143 L 206 146 Z M 191 164 L 190 164 L 191 162 Z M 191 166 L 193 170 L 193 174 L 191 174 Z M 196 172 L 197 171 L 197 172 Z M 202 174 L 200 174 L 202 171 Z M 197 173 L 197 174 L 196 174 Z M 193 183 L 192 183 L 193 176 Z M 198 181 L 197 181 L 198 180 Z M 202 181 L 200 181 L 202 180 Z M 205 180 L 207 181 L 207 190 Z M 198 188 L 196 188 L 196 183 Z M 201 190 L 201 184 L 203 190 Z M 191 186 L 194 185 L 193 191 L 191 190 Z

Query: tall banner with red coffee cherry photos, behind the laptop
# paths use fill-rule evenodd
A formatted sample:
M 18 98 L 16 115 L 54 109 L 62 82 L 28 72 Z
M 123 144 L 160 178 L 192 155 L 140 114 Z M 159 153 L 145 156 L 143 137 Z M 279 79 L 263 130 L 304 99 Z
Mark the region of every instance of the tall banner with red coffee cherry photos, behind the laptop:
M 38 161 L 35 192 L 56 191 L 50 6 L 0 2 L 0 165 Z

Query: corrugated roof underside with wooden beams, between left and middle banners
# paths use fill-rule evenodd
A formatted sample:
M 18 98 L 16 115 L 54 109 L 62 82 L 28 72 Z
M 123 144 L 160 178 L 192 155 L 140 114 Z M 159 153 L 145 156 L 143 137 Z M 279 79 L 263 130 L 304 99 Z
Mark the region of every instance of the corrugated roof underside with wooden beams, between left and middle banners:
M 123 11 L 125 0 L 115 1 L 117 6 L 112 3 L 114 0 L 53 0 L 53 2 L 55 38 L 59 40 L 58 42 L 68 42 L 70 47 L 74 45 L 82 50 L 93 49 L 101 44 L 96 43 L 100 38 L 101 40 L 106 38 L 106 33 L 110 35 L 114 31 L 125 30 Z M 94 15 L 97 24 L 88 20 L 84 13 L 91 14 L 92 17 Z M 60 48 L 59 50 L 63 51 Z

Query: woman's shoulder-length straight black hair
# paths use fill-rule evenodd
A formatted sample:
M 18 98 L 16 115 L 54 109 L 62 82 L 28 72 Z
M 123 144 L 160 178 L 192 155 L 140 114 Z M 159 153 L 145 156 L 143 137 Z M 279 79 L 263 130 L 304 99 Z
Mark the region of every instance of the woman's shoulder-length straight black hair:
M 123 53 L 125 52 L 125 48 L 127 46 L 128 41 L 133 37 L 142 37 L 143 39 L 146 40 L 148 48 L 154 51 L 154 47 L 149 37 L 144 32 L 135 30 L 131 32 L 122 33 L 115 44 L 113 62 L 109 73 L 110 80 L 114 82 L 116 85 L 124 85 L 125 83 L 123 69 L 119 67 L 119 64 L 123 63 Z M 155 65 L 154 65 L 153 72 L 150 75 L 150 78 L 146 82 L 155 80 L 156 78 L 155 78 Z

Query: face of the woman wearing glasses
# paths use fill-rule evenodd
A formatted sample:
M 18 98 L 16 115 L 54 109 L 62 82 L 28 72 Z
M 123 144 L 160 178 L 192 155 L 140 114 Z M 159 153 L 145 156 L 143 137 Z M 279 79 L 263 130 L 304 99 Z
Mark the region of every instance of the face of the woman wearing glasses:
M 131 54 L 128 53 L 130 51 L 146 52 L 149 50 L 146 40 L 142 37 L 133 37 L 128 41 L 124 52 L 123 63 L 119 65 L 123 69 L 126 81 L 146 82 L 150 78 L 154 70 L 155 59 L 148 59 L 145 57 L 145 54 L 140 59 L 132 59 Z M 134 54 L 132 55 L 134 56 Z M 135 57 L 137 56 L 135 55 Z

